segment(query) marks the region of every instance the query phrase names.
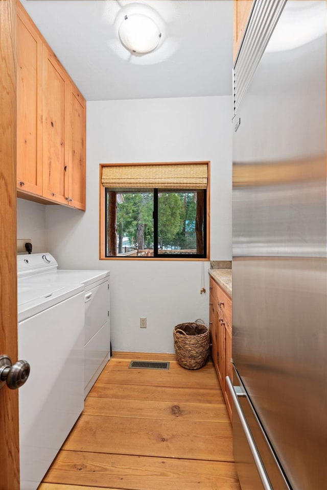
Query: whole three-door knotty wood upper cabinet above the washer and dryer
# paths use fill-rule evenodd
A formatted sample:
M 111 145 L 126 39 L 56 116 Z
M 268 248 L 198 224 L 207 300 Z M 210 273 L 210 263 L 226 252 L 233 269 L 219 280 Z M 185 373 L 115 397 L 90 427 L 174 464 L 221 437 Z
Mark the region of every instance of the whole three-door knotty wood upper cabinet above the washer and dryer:
M 84 97 L 17 3 L 17 195 L 85 210 Z

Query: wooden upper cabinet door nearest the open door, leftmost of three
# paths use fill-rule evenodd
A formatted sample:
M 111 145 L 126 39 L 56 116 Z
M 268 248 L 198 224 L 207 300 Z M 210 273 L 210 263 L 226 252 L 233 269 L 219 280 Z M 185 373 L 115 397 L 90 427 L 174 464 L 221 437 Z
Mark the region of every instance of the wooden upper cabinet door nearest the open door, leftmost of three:
M 17 3 L 17 188 L 42 195 L 42 40 Z

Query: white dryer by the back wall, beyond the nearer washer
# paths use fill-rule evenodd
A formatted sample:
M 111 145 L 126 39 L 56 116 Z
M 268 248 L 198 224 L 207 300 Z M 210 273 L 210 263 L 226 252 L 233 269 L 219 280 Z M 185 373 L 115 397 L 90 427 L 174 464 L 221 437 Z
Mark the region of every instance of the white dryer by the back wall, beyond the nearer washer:
M 56 287 L 57 284 L 76 283 L 85 288 L 85 398 L 110 359 L 110 271 L 58 269 L 57 261 L 49 253 L 25 257 L 33 260 L 34 284 L 46 281 Z M 25 274 L 22 272 L 20 277 Z

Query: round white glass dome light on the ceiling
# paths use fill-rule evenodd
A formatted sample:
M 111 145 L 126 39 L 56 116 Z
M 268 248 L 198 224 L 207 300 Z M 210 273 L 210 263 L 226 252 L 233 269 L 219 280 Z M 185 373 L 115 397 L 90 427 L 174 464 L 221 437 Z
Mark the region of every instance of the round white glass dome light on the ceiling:
M 161 32 L 153 19 L 136 13 L 125 15 L 119 28 L 119 37 L 128 51 L 144 55 L 158 46 Z

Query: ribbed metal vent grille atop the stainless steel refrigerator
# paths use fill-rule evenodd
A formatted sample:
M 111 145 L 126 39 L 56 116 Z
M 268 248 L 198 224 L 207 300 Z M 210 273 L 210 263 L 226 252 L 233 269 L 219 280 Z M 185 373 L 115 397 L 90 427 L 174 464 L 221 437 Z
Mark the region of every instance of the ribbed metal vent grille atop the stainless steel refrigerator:
M 254 0 L 233 68 L 233 115 L 258 67 L 287 0 Z

